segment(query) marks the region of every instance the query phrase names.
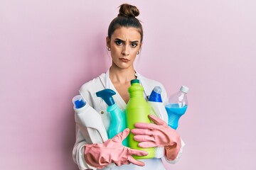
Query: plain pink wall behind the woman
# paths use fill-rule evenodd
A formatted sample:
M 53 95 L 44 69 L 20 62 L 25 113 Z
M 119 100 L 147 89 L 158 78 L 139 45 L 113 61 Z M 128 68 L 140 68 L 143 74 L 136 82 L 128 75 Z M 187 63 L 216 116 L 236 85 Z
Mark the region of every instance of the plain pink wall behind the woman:
M 0 1 L 0 169 L 78 169 L 71 99 L 110 67 L 105 37 L 124 1 Z M 190 106 L 167 169 L 256 169 L 256 1 L 127 1 L 144 45 L 136 68 Z

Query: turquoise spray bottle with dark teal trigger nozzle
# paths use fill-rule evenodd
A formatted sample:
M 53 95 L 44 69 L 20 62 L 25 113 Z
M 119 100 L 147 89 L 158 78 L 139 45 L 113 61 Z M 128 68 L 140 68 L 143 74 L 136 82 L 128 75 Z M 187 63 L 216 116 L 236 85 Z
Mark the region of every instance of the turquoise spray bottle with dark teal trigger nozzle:
M 107 135 L 110 139 L 127 127 L 124 111 L 121 111 L 117 104 L 114 103 L 112 97 L 114 94 L 116 93 L 112 89 L 104 89 L 96 93 L 96 96 L 102 98 L 108 106 L 107 112 L 110 113 L 110 128 L 107 130 Z M 128 146 L 127 138 L 123 140 L 122 144 L 126 147 Z

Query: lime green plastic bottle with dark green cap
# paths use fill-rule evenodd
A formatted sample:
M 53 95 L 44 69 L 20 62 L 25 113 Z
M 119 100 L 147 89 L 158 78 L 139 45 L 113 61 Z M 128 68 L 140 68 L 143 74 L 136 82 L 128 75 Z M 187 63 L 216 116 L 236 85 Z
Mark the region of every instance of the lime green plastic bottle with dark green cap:
M 135 123 L 151 123 L 148 115 L 150 114 L 149 104 L 146 102 L 143 91 L 144 88 L 139 84 L 139 79 L 133 79 L 129 91 L 129 101 L 125 109 L 127 117 L 127 128 L 134 129 Z M 148 155 L 139 157 L 133 156 L 135 159 L 150 159 L 154 157 L 154 147 L 142 148 L 138 147 L 139 142 L 134 140 L 134 135 L 129 133 L 128 146 L 132 149 L 144 150 Z

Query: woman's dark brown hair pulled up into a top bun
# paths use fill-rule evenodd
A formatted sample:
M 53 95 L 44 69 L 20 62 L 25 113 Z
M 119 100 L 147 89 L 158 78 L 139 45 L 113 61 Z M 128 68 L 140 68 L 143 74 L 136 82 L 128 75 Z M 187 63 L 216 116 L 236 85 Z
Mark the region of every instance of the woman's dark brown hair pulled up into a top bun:
M 108 38 L 114 33 L 114 30 L 120 27 L 133 27 L 137 28 L 141 35 L 141 42 L 143 40 L 142 24 L 136 18 L 139 16 L 139 9 L 136 6 L 130 4 L 122 4 L 119 6 L 119 14 L 114 18 L 107 31 Z

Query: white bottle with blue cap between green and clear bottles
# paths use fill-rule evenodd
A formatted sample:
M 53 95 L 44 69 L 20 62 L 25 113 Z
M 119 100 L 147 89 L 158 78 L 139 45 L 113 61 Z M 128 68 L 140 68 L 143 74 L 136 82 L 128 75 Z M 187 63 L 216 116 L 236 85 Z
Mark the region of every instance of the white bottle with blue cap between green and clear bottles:
M 164 103 L 161 99 L 162 89 L 160 86 L 155 86 L 153 91 L 149 96 L 149 106 L 151 106 L 151 115 L 161 118 L 166 123 L 168 123 L 168 115 L 164 107 Z M 155 156 L 156 158 L 161 158 L 164 156 L 164 147 L 155 147 Z

